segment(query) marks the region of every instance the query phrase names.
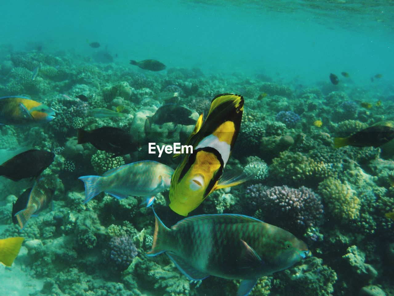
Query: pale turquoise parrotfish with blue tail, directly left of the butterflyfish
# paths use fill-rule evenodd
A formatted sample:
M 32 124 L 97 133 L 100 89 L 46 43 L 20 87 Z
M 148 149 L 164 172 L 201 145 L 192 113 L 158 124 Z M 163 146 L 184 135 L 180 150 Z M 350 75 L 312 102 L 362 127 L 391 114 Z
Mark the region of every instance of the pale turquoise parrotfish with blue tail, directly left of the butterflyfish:
M 137 161 L 108 170 L 102 176 L 79 177 L 85 183 L 85 202 L 101 192 L 117 199 L 128 196 L 147 197 L 148 206 L 154 195 L 170 187 L 174 170 L 157 161 Z

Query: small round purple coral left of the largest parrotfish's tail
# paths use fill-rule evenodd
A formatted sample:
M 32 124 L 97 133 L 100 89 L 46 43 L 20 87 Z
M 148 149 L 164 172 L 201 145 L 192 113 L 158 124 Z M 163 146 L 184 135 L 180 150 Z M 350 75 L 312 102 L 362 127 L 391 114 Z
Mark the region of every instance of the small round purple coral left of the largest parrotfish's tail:
M 137 247 L 129 236 L 111 238 L 110 261 L 114 262 L 117 268 L 126 270 L 137 254 Z

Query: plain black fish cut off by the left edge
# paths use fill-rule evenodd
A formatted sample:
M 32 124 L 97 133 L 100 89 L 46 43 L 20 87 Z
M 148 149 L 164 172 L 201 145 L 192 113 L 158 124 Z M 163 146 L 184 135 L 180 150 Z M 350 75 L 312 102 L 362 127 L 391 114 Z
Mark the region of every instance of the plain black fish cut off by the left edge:
M 0 176 L 13 181 L 26 178 L 37 178 L 43 170 L 50 166 L 55 154 L 45 150 L 32 149 L 15 155 L 0 165 Z

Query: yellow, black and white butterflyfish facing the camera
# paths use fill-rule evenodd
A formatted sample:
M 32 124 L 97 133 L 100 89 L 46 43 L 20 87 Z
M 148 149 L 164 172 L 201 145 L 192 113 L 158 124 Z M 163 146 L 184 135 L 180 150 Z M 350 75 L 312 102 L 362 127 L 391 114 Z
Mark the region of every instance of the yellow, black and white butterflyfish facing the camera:
M 242 96 L 221 94 L 212 100 L 205 122 L 203 114 L 197 120 L 186 141 L 193 151 L 184 155 L 171 179 L 169 206 L 174 212 L 187 216 L 212 191 L 250 179 L 248 174 L 241 174 L 221 180 L 240 131 L 243 103 Z

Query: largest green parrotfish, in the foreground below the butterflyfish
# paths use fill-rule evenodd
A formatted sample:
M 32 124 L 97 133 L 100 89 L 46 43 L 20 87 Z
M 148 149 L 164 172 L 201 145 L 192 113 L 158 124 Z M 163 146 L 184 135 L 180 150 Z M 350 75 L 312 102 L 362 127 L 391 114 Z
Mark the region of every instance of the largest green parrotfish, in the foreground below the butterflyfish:
M 240 279 L 237 296 L 248 295 L 259 277 L 310 255 L 307 245 L 290 232 L 244 215 L 197 215 L 171 228 L 155 217 L 149 256 L 165 252 L 193 281 L 210 275 Z

